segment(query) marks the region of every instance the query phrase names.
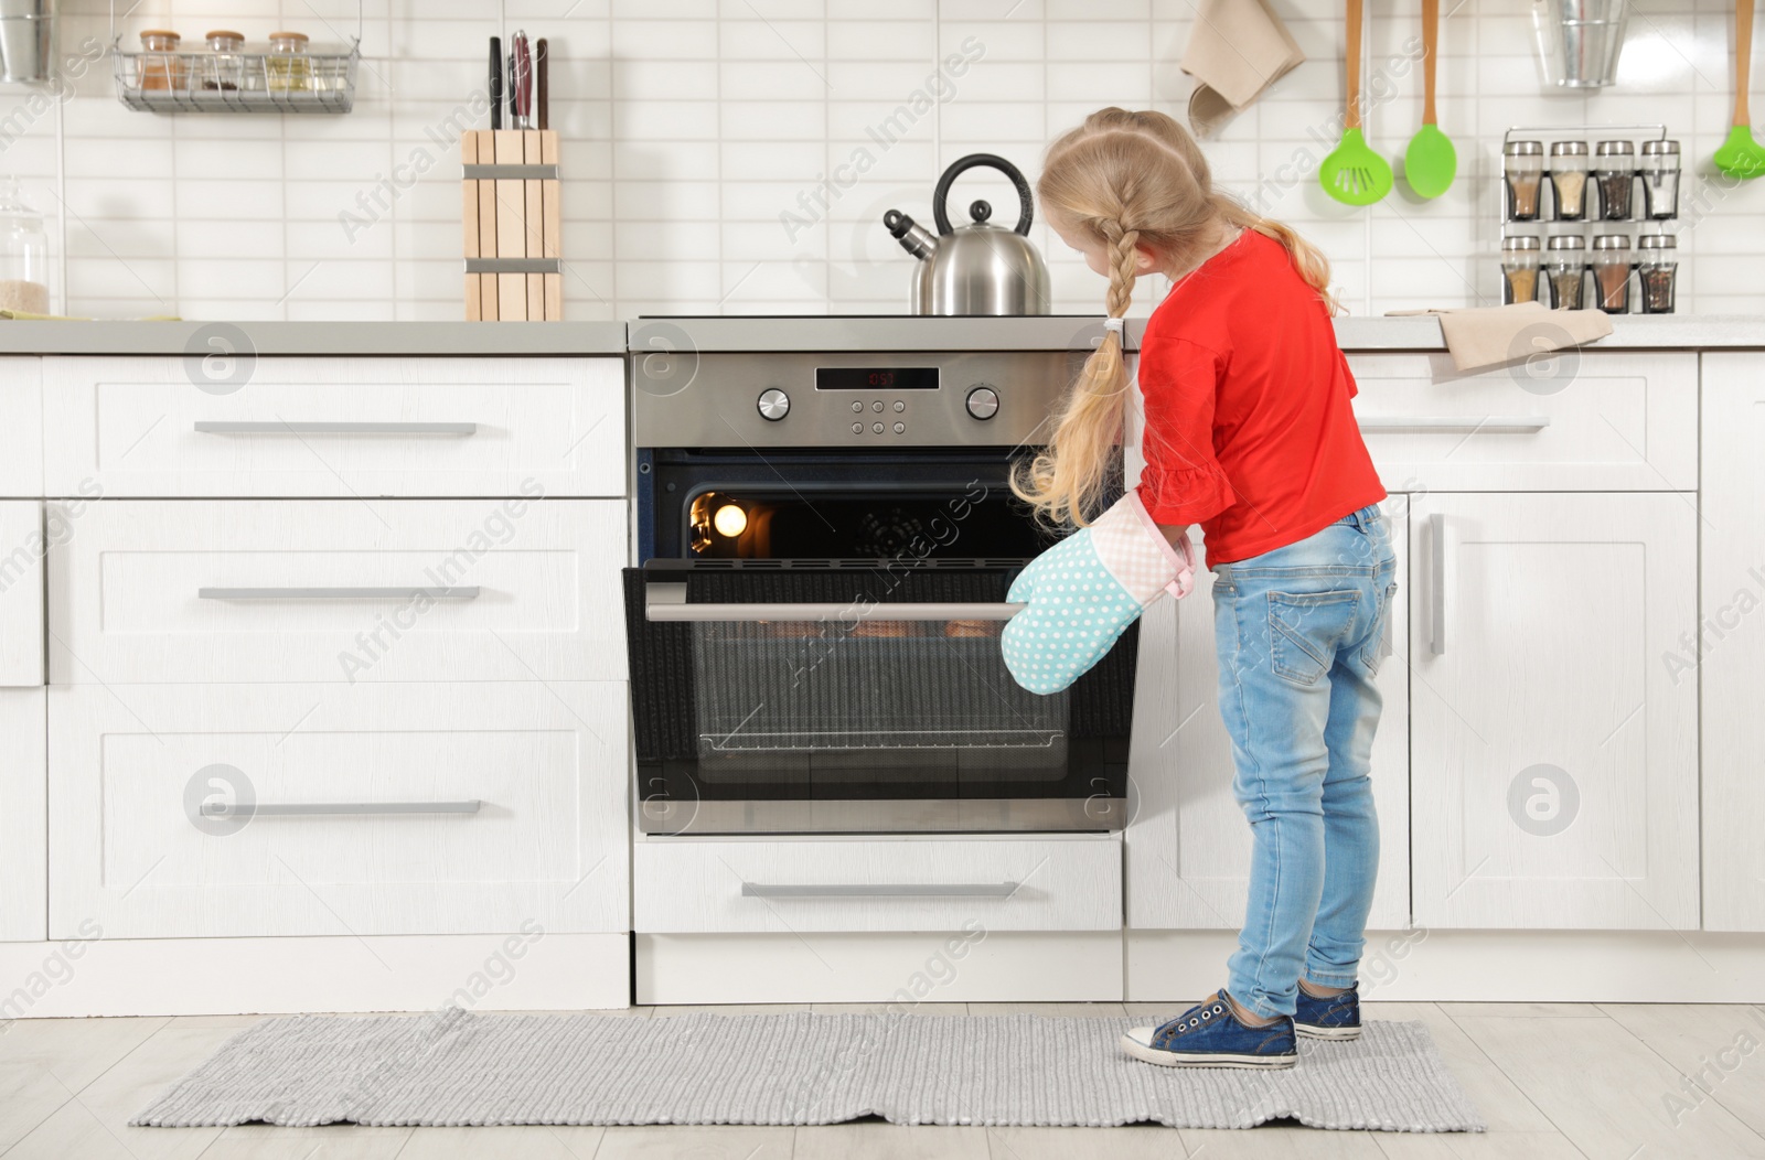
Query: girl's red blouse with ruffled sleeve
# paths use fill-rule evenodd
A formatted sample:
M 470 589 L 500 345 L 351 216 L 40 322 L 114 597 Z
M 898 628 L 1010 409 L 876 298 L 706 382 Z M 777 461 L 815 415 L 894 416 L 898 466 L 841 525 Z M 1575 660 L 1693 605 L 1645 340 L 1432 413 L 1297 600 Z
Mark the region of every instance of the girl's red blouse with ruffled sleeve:
M 1297 543 L 1386 497 L 1329 310 L 1246 229 L 1153 310 L 1140 340 L 1140 502 L 1200 524 L 1209 564 Z

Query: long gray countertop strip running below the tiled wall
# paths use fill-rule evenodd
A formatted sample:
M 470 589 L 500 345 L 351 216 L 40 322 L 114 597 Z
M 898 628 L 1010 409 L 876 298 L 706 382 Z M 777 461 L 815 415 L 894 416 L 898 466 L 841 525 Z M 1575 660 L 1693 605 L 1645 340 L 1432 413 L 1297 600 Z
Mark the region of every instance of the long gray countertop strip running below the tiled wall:
M 1145 319 L 1128 319 L 1137 347 Z M 627 333 L 627 330 L 630 333 Z M 1100 317 L 680 317 L 627 323 L 19 323 L 0 354 L 623 354 L 637 351 L 1085 349 Z M 1765 316 L 1622 316 L 1597 349 L 1765 349 Z M 1428 316 L 1340 317 L 1345 351 L 1440 351 Z

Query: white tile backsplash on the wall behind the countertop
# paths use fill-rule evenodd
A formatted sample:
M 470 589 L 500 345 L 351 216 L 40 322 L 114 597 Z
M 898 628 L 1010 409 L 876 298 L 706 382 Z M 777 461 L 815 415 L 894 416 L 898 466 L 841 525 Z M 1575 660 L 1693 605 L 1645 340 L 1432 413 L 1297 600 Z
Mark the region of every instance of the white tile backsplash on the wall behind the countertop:
M 1315 180 L 1340 123 L 1341 7 L 1273 7 L 1308 60 L 1205 148 L 1227 189 L 1324 247 L 1350 312 L 1498 301 L 1502 132 L 1638 120 L 1686 148 L 1680 312 L 1765 312 L 1765 182 L 1730 189 L 1709 164 L 1731 109 L 1726 0 L 1631 5 L 1619 83 L 1583 93 L 1543 88 L 1528 0 L 1444 5 L 1460 180 L 1423 203 L 1400 176 L 1370 210 Z M 1034 180 L 1047 141 L 1103 104 L 1183 116 L 1195 18 L 1190 0 L 369 0 L 348 116 L 166 116 L 116 100 L 109 9 L 62 11 L 56 83 L 0 86 L 0 171 L 49 217 L 56 305 L 201 319 L 462 317 L 454 141 L 487 37 L 517 26 L 552 49 L 567 317 L 902 312 L 913 259 L 882 213 L 930 220 L 964 153 Z M 150 26 L 185 46 L 215 26 L 318 44 L 355 25 L 348 0 L 143 0 L 116 30 L 125 48 Z M 1368 26 L 1368 138 L 1396 159 L 1421 118 L 1419 0 L 1371 0 Z M 987 171 L 957 183 L 951 217 L 981 196 L 1015 217 Z M 1055 309 L 1100 310 L 1101 280 L 1041 222 L 1034 238 Z

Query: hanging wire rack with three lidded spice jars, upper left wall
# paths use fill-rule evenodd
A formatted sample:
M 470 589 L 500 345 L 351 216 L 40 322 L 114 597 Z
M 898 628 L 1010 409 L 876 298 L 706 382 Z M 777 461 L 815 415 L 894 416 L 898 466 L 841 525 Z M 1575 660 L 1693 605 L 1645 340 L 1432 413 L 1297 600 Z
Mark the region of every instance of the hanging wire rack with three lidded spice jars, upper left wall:
M 344 51 L 124 51 L 109 5 L 116 99 L 139 113 L 348 113 L 362 60 L 362 4 Z

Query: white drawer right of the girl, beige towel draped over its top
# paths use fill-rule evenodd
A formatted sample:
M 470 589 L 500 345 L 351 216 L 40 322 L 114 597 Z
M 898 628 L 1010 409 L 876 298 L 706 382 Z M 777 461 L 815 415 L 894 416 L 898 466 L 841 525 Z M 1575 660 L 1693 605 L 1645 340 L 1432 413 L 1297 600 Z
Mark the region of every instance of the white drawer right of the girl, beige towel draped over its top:
M 1693 492 L 1698 356 L 1566 351 L 1458 374 L 1357 354 L 1356 416 L 1391 492 Z

